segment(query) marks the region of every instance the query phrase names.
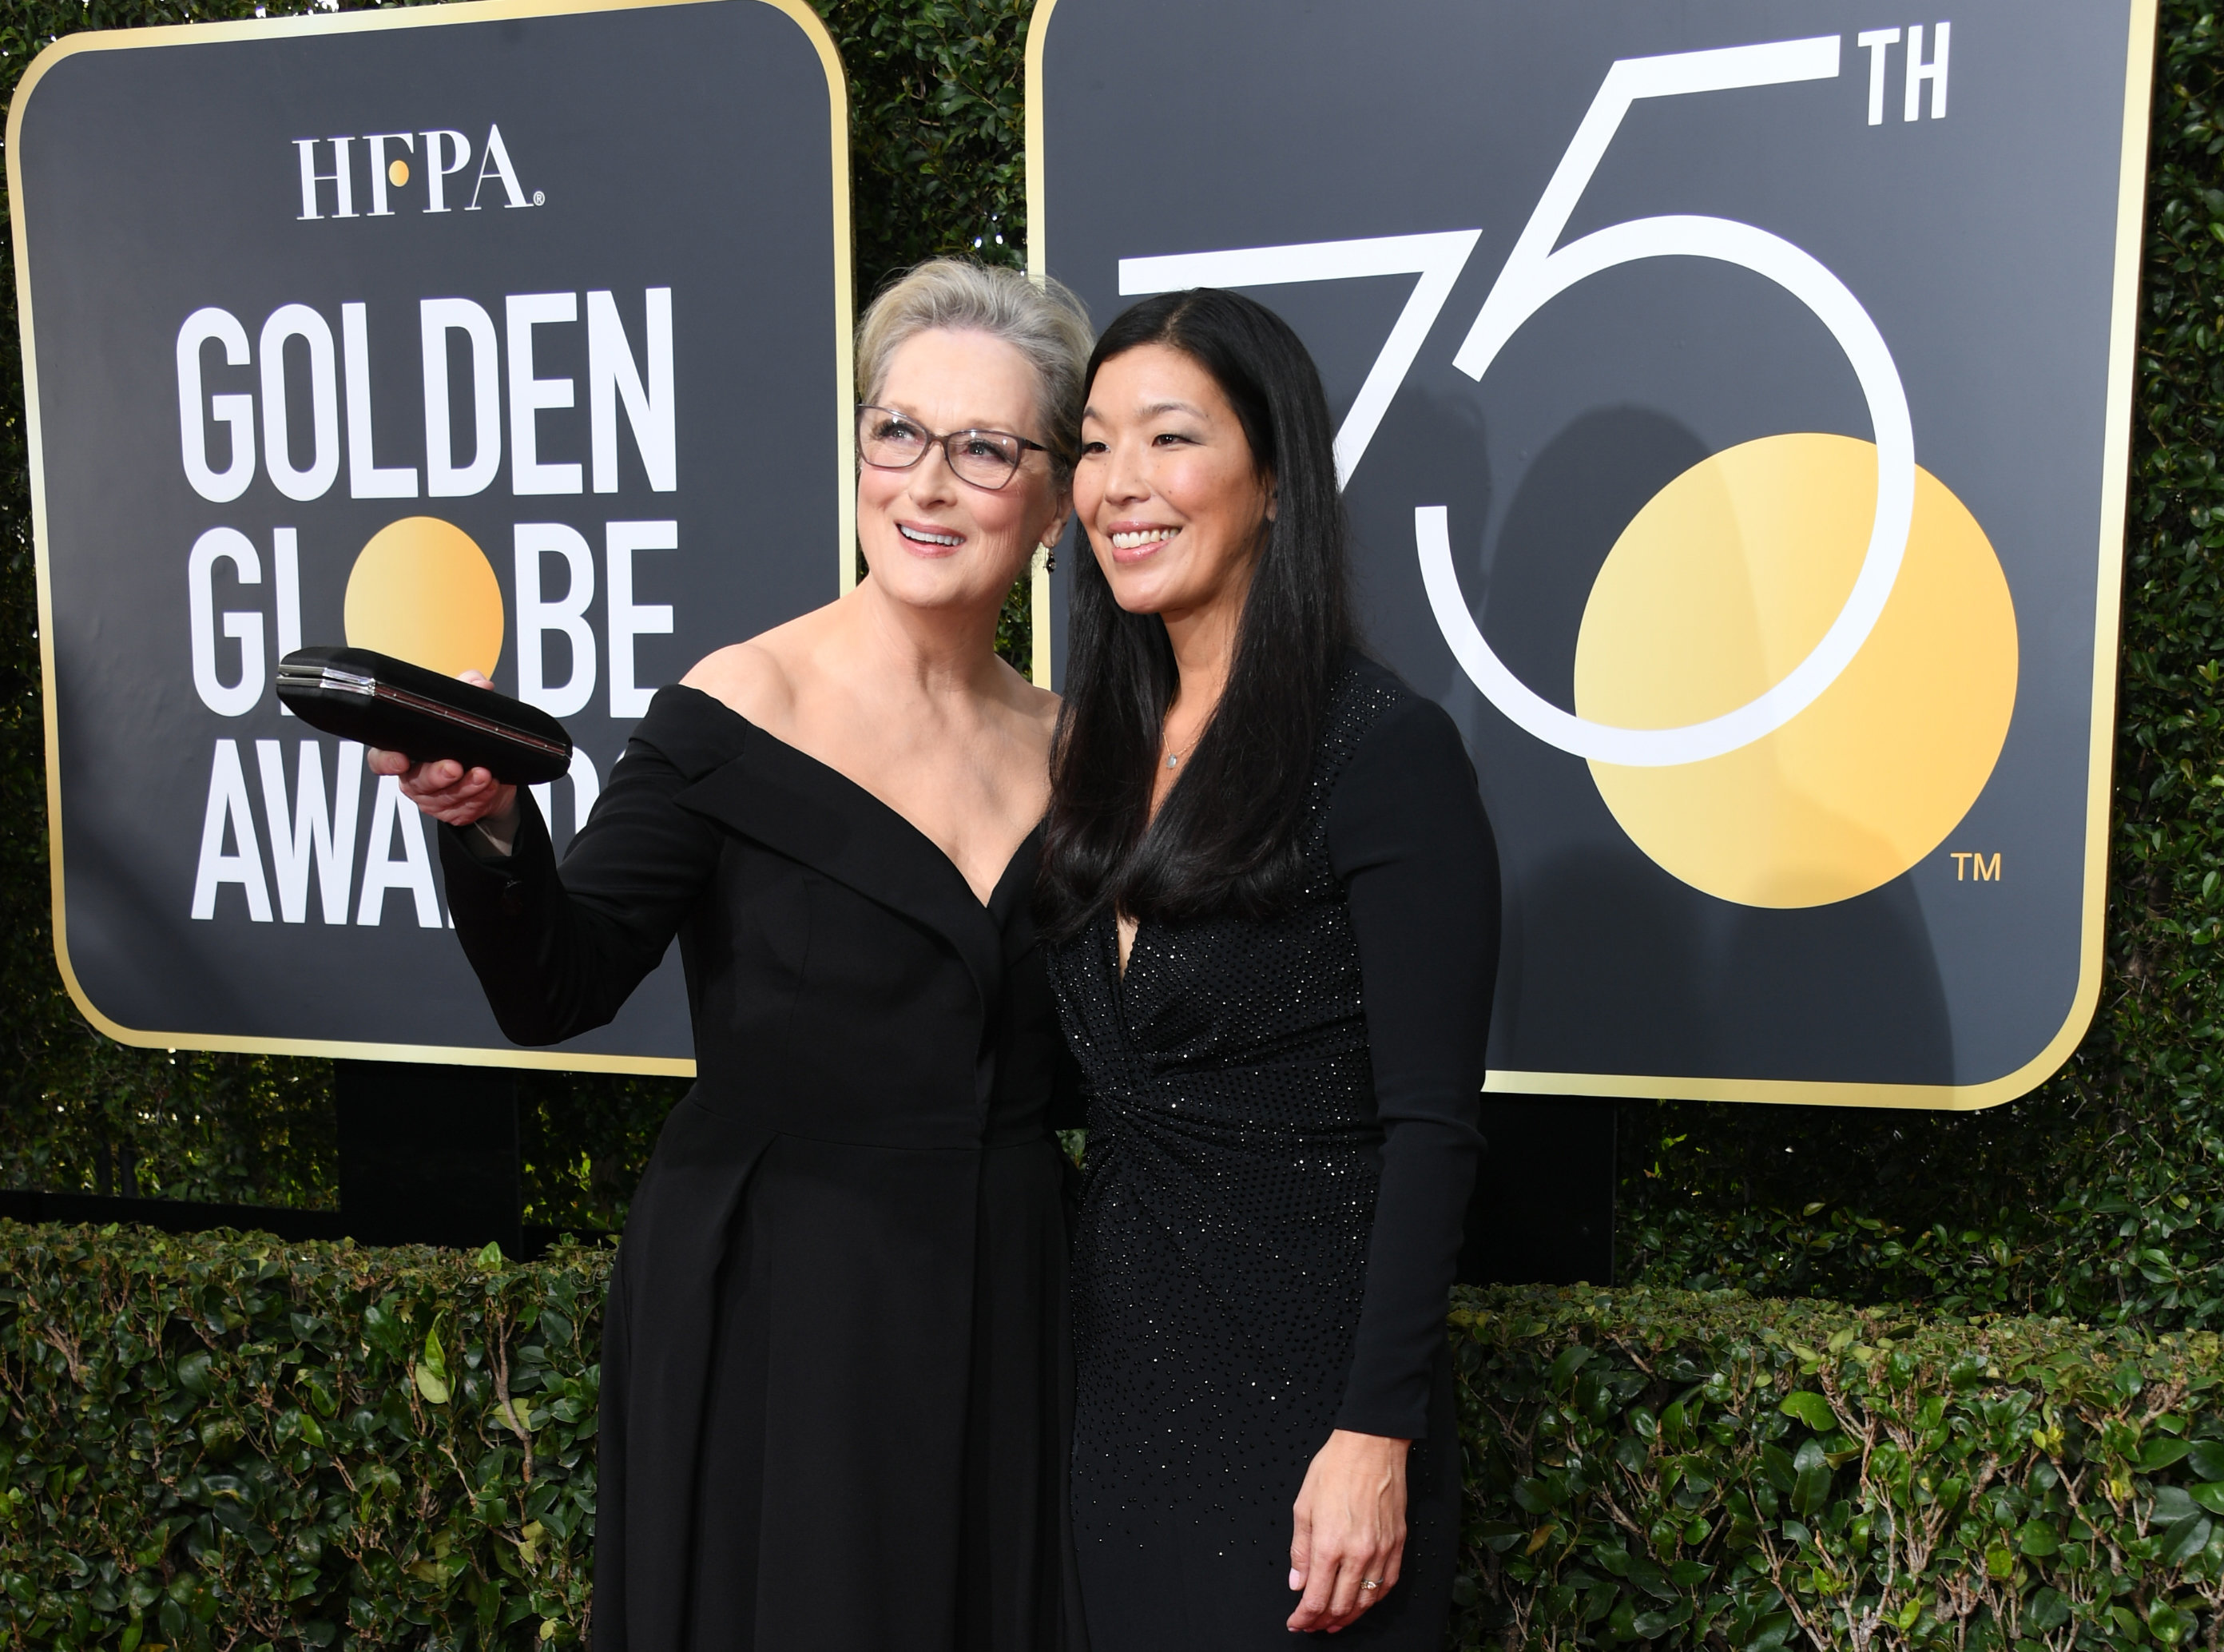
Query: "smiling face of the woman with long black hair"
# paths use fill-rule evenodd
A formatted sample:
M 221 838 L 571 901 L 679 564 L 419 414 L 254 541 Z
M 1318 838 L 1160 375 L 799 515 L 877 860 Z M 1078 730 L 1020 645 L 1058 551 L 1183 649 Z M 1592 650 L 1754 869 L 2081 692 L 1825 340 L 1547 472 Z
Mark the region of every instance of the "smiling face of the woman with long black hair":
M 1241 609 L 1274 487 L 1212 374 L 1170 345 L 1139 345 L 1090 385 L 1074 509 L 1112 598 L 1176 618 Z

